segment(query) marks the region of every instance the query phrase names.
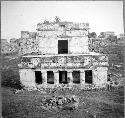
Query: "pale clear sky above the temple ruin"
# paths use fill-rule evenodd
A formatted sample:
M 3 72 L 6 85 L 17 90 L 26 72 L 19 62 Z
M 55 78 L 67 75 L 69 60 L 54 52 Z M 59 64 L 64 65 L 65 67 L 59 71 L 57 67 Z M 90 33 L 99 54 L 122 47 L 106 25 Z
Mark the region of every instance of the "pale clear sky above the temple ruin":
M 54 21 L 89 23 L 90 32 L 123 33 L 123 1 L 2 1 L 1 38 L 20 38 L 21 31 L 37 31 L 38 23 Z

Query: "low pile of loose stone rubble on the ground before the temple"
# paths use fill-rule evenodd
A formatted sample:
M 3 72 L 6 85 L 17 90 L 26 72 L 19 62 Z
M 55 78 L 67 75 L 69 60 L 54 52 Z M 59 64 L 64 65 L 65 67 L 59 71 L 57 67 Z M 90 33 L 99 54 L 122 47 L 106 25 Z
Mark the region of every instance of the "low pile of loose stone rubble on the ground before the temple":
M 41 102 L 41 107 L 45 110 L 74 110 L 79 105 L 79 99 L 76 96 L 52 96 L 45 98 Z

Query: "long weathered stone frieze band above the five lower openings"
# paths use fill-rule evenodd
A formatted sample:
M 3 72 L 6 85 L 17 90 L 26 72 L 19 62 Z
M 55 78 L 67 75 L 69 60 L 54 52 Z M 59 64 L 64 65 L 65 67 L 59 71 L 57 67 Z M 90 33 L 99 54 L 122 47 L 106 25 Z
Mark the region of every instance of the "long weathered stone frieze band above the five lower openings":
M 100 58 L 99 58 L 100 57 Z M 105 55 L 65 55 L 65 56 L 23 56 L 20 60 L 20 68 L 90 68 L 98 66 L 108 66 Z M 75 63 L 74 63 L 75 62 Z M 70 65 L 71 63 L 71 65 Z

